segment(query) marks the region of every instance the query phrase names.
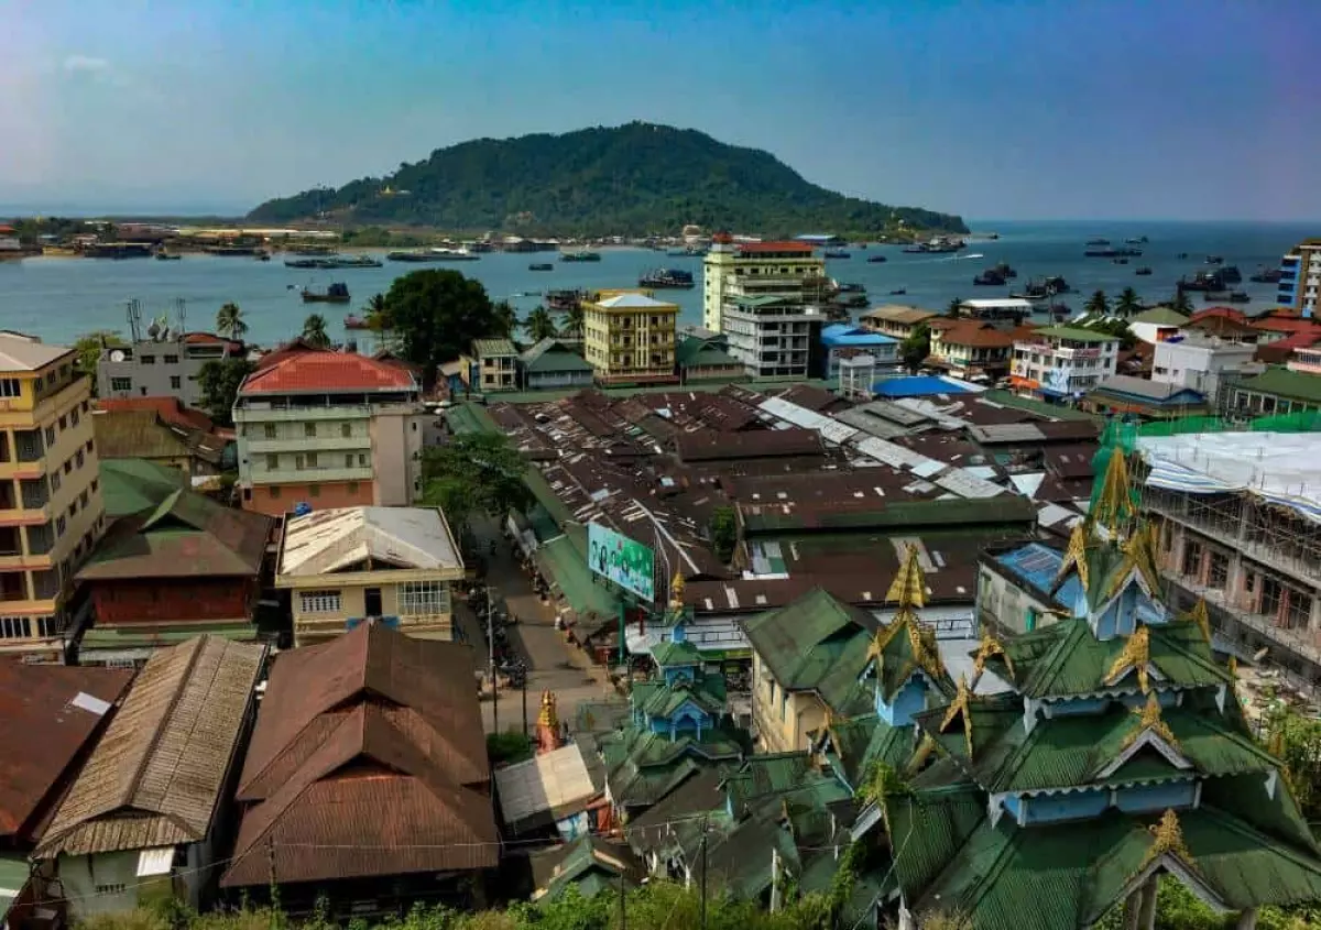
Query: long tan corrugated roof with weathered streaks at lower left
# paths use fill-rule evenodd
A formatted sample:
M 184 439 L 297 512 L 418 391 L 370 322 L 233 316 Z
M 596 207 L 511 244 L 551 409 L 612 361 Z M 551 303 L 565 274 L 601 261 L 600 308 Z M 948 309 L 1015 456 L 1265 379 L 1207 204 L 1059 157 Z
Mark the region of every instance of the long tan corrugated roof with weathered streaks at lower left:
M 37 847 L 53 859 L 210 834 L 266 646 L 197 637 L 157 650 Z

